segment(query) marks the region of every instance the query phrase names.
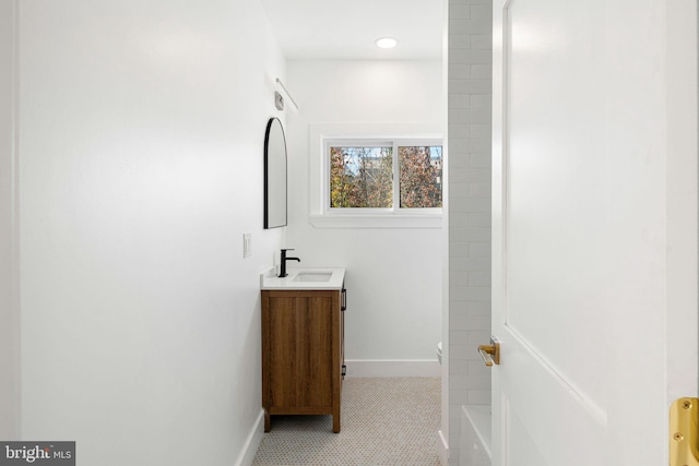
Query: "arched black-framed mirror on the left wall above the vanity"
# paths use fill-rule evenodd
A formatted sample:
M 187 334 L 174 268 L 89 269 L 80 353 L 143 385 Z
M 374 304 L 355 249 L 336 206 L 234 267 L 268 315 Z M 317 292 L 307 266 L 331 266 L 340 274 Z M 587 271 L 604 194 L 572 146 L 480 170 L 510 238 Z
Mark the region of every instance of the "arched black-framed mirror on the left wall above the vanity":
M 286 138 L 279 118 L 264 132 L 264 228 L 286 226 Z

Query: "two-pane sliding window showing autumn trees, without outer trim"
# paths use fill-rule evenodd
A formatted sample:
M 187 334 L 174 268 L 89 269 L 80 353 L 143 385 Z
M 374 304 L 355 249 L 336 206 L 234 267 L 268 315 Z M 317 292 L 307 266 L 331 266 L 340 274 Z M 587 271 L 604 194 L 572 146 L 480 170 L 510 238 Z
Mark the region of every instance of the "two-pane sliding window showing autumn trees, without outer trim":
M 324 155 L 330 212 L 416 214 L 441 208 L 441 141 L 328 140 Z

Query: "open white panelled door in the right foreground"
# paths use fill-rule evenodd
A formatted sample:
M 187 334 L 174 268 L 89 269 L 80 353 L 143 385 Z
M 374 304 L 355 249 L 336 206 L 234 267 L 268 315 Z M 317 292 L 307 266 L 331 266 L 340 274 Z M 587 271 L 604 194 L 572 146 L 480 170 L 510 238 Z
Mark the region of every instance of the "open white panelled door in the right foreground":
M 667 465 L 698 394 L 696 22 L 494 0 L 494 466 Z

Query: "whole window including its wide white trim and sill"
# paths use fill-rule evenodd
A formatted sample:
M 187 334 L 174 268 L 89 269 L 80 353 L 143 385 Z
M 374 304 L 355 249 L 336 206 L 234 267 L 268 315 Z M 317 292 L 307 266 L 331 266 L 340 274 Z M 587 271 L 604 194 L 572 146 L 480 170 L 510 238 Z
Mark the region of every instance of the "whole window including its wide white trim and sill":
M 310 123 L 316 228 L 441 228 L 442 126 Z

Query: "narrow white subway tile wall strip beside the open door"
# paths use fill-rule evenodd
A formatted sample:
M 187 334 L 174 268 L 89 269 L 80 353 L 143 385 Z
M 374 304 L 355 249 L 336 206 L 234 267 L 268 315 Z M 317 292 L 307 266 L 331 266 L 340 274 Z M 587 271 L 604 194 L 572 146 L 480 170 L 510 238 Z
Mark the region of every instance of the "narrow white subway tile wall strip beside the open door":
M 490 404 L 477 346 L 490 338 L 493 2 L 449 0 L 449 464 L 461 406 Z

